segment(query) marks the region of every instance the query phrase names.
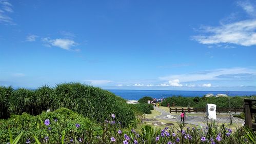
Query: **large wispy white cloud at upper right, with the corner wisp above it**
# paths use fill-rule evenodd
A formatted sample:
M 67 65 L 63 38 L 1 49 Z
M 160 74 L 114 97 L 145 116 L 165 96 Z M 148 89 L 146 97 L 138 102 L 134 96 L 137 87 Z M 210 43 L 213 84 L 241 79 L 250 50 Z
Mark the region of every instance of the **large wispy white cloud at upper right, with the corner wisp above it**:
M 249 2 L 239 2 L 248 14 L 256 15 L 255 7 Z M 256 19 L 246 19 L 238 22 L 228 23 L 221 26 L 204 26 L 200 28 L 204 34 L 192 36 L 193 40 L 201 44 L 235 44 L 241 46 L 256 45 Z M 224 46 L 224 48 L 234 48 L 232 46 Z

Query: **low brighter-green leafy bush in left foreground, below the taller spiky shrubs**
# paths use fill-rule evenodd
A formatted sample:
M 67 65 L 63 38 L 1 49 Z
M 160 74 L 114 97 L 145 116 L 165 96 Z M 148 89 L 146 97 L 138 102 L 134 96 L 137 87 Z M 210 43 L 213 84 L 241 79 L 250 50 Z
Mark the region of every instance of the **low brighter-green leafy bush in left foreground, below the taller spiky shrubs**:
M 45 120 L 49 119 L 50 124 L 45 125 Z M 76 128 L 76 124 L 80 127 Z M 84 141 L 91 141 L 92 138 L 101 135 L 102 127 L 95 124 L 89 118 L 74 113 L 73 111 L 61 108 L 54 112 L 43 112 L 41 115 L 33 116 L 27 113 L 22 115 L 12 115 L 7 120 L 0 120 L 0 141 L 7 143 L 10 141 L 8 128 L 15 137 L 23 132 L 19 143 L 26 143 L 27 139 L 32 140 L 35 135 L 40 141 L 48 143 L 57 143 L 60 141 L 60 135 L 65 131 L 66 139 L 83 138 Z

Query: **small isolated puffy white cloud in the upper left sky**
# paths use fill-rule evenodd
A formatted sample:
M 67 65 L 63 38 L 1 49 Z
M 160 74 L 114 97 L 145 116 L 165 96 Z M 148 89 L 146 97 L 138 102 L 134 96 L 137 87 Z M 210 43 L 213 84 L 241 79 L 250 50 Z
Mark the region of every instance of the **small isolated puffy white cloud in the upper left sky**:
M 62 48 L 64 50 L 71 50 L 71 47 L 74 47 L 77 45 L 77 43 L 74 42 L 74 40 L 71 39 L 65 39 L 65 38 L 56 38 L 51 39 L 49 37 L 43 38 L 43 42 L 47 44 L 47 46 L 55 46 Z

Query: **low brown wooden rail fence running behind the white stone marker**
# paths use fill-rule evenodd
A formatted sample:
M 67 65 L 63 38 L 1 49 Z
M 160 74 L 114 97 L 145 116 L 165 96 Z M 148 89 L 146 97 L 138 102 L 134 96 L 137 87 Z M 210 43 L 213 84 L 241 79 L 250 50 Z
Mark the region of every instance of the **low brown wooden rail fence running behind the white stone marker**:
M 170 113 L 181 113 L 182 111 L 186 111 L 187 113 L 206 113 L 206 108 L 171 108 Z M 244 108 L 232 108 L 232 113 L 244 112 Z M 229 113 L 229 108 L 216 108 L 216 113 Z

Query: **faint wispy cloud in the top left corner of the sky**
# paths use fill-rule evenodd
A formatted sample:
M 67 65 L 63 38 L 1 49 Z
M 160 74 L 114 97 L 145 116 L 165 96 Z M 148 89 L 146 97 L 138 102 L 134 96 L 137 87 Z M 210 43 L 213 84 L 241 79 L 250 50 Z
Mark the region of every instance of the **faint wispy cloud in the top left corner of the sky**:
M 0 23 L 15 25 L 12 18 L 9 16 L 9 13 L 13 12 L 11 3 L 7 0 L 0 1 Z

